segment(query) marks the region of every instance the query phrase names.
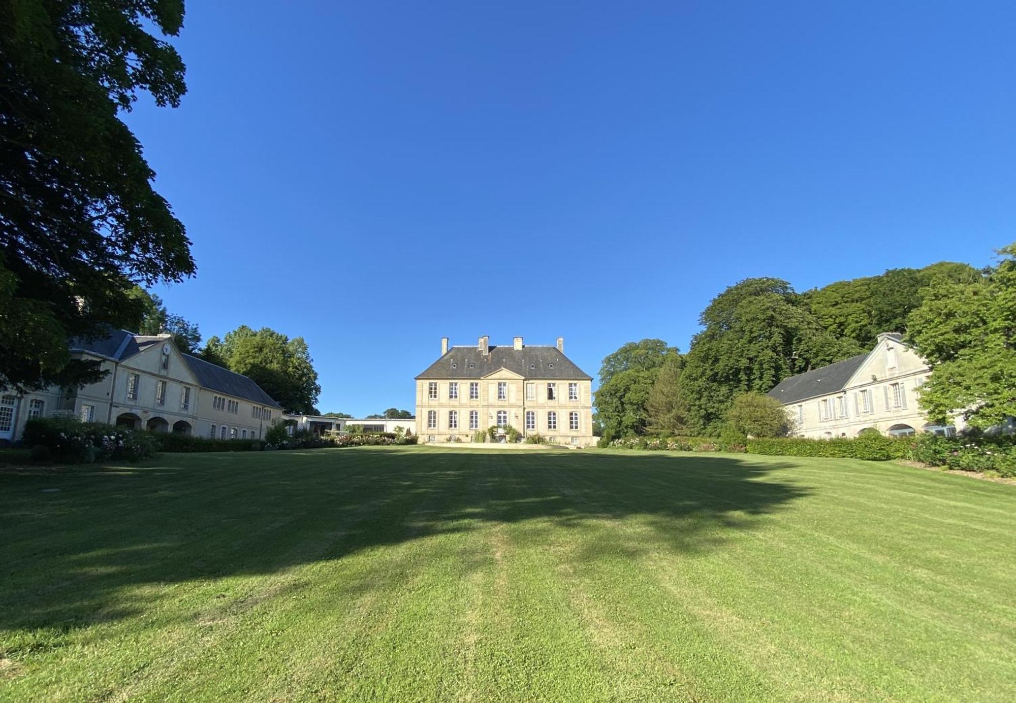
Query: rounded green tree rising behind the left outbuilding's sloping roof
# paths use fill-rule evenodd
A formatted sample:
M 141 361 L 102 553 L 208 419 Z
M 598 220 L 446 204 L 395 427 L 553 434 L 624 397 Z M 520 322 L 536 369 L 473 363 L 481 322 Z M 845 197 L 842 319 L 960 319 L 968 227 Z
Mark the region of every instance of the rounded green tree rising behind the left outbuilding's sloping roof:
M 321 386 L 303 337 L 290 338 L 268 327 L 241 325 L 223 339 L 208 339 L 201 357 L 249 376 L 290 412 L 316 414 Z

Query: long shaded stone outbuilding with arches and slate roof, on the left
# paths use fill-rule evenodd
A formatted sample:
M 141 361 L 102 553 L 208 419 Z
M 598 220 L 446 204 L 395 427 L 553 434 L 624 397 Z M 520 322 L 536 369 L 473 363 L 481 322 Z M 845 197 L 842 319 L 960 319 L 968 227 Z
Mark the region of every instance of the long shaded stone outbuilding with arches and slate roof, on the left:
M 106 376 L 81 389 L 0 393 L 0 441 L 18 440 L 27 420 L 53 414 L 215 439 L 260 439 L 281 418 L 281 406 L 257 383 L 183 354 L 168 334 L 111 330 L 76 340 L 71 353 L 99 361 Z

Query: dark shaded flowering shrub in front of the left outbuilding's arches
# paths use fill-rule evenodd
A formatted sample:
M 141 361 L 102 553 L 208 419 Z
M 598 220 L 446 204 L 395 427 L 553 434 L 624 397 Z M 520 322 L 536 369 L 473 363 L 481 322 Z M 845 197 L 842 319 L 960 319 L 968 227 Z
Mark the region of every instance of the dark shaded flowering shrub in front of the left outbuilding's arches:
M 24 424 L 25 444 L 50 451 L 57 461 L 90 463 L 107 459 L 130 461 L 154 455 L 158 443 L 146 432 L 134 432 L 77 418 L 34 418 Z

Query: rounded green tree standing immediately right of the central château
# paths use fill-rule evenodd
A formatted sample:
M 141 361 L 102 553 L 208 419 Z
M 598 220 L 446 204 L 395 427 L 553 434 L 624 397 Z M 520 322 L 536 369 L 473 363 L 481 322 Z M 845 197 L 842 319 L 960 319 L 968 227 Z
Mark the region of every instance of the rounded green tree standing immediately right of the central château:
M 604 359 L 596 390 L 596 420 L 605 437 L 643 434 L 656 374 L 676 349 L 662 339 L 630 341 Z

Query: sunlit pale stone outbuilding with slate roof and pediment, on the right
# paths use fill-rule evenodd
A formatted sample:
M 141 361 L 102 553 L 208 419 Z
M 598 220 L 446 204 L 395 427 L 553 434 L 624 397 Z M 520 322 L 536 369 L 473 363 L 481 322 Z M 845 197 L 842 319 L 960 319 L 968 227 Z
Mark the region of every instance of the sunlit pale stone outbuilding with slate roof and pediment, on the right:
M 895 436 L 956 433 L 955 425 L 929 423 L 917 405 L 932 373 L 928 363 L 896 332 L 878 339 L 868 354 L 785 378 L 769 391 L 786 408 L 795 435 L 855 437 L 869 428 Z

